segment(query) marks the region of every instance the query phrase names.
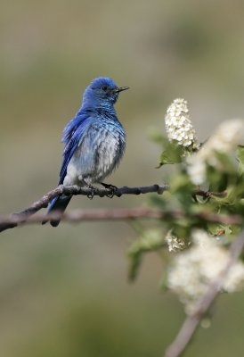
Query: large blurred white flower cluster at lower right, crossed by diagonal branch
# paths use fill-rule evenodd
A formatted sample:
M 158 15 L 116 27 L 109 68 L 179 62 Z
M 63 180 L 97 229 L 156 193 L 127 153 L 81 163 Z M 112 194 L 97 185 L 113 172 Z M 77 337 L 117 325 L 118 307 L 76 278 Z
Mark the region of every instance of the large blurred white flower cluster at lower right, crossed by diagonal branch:
M 169 268 L 167 286 L 179 296 L 185 311 L 191 314 L 206 294 L 208 286 L 225 268 L 229 253 L 205 231 L 193 234 L 192 247 L 175 255 Z M 244 264 L 236 262 L 229 270 L 222 289 L 228 293 L 244 287 Z

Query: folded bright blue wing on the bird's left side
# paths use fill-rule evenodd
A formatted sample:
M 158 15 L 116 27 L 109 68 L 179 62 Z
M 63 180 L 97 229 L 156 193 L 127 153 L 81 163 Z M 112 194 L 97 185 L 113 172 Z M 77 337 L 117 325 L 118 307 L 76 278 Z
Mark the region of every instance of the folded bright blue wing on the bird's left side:
M 87 129 L 87 121 L 91 118 L 88 113 L 77 113 L 77 116 L 70 120 L 62 134 L 62 143 L 65 143 L 63 151 L 63 160 L 61 164 L 60 180 L 59 185 L 63 183 L 63 180 L 67 173 L 67 167 L 69 161 L 77 149 L 82 137 L 85 134 L 85 129 Z

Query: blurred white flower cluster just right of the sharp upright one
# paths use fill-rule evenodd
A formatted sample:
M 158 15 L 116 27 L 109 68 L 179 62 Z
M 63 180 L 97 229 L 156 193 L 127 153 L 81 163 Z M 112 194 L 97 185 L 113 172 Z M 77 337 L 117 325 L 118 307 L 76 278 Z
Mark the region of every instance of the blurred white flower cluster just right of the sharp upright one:
M 243 138 L 244 120 L 224 121 L 199 152 L 188 157 L 187 171 L 191 182 L 194 185 L 202 185 L 205 182 L 207 163 L 221 169 L 221 163 L 217 160 L 215 153 L 228 154 L 232 152 Z

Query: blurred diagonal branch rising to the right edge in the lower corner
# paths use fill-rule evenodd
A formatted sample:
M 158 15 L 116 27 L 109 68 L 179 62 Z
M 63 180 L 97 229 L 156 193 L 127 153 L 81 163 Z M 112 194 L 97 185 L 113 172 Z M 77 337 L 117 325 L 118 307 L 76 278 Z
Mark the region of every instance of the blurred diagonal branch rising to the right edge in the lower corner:
M 199 323 L 207 313 L 211 305 L 216 300 L 217 295 L 220 293 L 222 286 L 224 285 L 224 280 L 227 277 L 232 265 L 236 262 L 240 253 L 244 248 L 244 232 L 241 233 L 240 237 L 237 237 L 231 247 L 229 253 L 229 260 L 226 263 L 224 270 L 220 273 L 218 278 L 209 286 L 207 294 L 203 296 L 202 300 L 199 302 L 199 306 L 196 311 L 188 316 L 183 322 L 183 326 L 180 329 L 178 335 L 175 337 L 174 342 L 169 345 L 165 353 L 165 357 L 179 357 L 191 342 L 191 338 L 194 336 Z

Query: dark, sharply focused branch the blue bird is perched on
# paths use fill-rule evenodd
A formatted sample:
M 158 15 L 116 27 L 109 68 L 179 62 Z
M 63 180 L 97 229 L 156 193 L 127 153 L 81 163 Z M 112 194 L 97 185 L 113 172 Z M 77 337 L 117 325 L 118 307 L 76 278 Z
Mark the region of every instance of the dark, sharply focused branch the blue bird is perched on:
M 153 192 L 161 195 L 167 189 L 168 189 L 167 185 L 162 185 L 162 186 L 152 185 L 146 187 L 120 187 L 117 188 L 116 190 L 111 190 L 110 188 L 93 189 L 93 188 L 78 187 L 78 186 L 64 187 L 61 185 L 53 189 L 52 191 L 48 192 L 47 194 L 45 194 L 37 202 L 32 203 L 27 209 L 21 212 L 12 213 L 8 217 L 3 216 L 0 220 L 0 232 L 4 231 L 5 229 L 14 228 L 18 226 L 18 224 L 21 222 L 26 222 L 28 218 L 32 216 L 34 213 L 40 211 L 42 208 L 47 207 L 48 203 L 58 195 L 86 195 L 86 196 L 98 195 L 100 197 L 104 197 L 112 194 L 120 197 L 121 195 L 140 195 L 140 194 L 148 194 Z M 42 217 L 44 219 L 44 216 Z M 62 216 L 60 215 L 59 217 Z M 72 217 L 69 220 L 72 220 Z

